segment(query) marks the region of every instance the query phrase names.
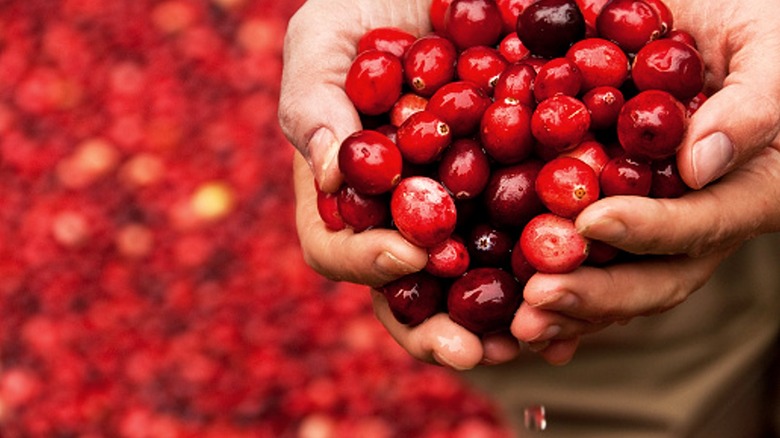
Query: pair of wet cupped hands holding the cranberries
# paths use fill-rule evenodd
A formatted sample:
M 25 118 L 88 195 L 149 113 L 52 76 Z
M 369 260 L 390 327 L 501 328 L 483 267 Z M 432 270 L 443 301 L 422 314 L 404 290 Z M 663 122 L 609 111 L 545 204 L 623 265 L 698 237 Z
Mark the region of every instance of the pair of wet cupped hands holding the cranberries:
M 612 197 L 576 220 L 584 236 L 658 257 L 568 274 L 535 274 L 511 333 L 478 337 L 435 315 L 410 328 L 372 290 L 377 318 L 412 356 L 454 369 L 516 358 L 521 345 L 564 364 L 582 335 L 673 308 L 744 241 L 780 230 L 780 2 L 667 0 L 675 27 L 697 40 L 711 97 L 690 120 L 677 154 L 678 199 Z M 285 37 L 279 120 L 296 147 L 296 225 L 306 262 L 333 280 L 378 287 L 425 266 L 427 253 L 396 231 L 329 231 L 314 179 L 333 192 L 341 140 L 361 129 L 344 92 L 358 39 L 394 26 L 430 32 L 430 0 L 309 0 Z

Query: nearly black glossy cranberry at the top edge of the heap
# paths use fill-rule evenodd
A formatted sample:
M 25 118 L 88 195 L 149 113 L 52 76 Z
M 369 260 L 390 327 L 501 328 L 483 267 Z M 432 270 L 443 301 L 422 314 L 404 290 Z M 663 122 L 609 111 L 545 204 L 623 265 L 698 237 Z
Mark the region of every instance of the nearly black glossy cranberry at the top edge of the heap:
M 555 58 L 585 36 L 585 19 L 573 0 L 539 0 L 520 14 L 516 31 L 531 53 Z

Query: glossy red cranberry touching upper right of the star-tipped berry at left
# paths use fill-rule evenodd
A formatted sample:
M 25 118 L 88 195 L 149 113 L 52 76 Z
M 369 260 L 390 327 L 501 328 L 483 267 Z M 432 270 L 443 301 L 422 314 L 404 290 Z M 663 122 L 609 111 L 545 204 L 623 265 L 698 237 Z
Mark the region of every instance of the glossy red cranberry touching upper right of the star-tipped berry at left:
M 427 109 L 450 126 L 453 137 L 464 137 L 476 132 L 482 113 L 491 102 L 487 93 L 476 84 L 456 81 L 437 90 L 428 101 Z

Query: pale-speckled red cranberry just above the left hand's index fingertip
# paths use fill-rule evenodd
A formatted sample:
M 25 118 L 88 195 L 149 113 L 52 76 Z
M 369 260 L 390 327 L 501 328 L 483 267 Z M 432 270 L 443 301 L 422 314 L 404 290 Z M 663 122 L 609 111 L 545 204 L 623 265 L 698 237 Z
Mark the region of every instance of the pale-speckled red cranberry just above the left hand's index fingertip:
M 393 191 L 390 213 L 401 235 L 414 245 L 430 248 L 455 230 L 455 201 L 436 180 L 425 176 L 403 179 Z

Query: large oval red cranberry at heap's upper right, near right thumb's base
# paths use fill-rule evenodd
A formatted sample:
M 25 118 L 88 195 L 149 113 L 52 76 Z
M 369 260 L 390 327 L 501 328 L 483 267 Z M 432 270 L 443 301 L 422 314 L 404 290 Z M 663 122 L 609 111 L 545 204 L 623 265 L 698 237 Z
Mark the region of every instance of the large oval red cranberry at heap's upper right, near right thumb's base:
M 639 90 L 663 90 L 687 100 L 704 88 L 704 61 L 688 44 L 668 38 L 644 46 L 634 58 L 632 78 Z

